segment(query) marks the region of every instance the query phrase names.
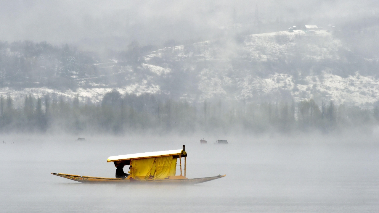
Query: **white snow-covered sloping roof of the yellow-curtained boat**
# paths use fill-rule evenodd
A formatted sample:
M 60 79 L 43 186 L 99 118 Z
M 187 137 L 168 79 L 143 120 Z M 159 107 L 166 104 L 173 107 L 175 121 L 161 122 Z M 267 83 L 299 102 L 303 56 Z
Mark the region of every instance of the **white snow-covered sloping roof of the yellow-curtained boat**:
M 158 151 L 158 152 L 143 152 L 143 153 L 136 153 L 136 154 L 128 154 L 128 155 L 117 155 L 117 156 L 111 156 L 106 160 L 106 162 L 112 162 L 112 161 L 119 161 L 119 160 L 131 160 L 131 159 L 138 159 L 138 158 L 152 158 L 152 157 L 160 157 L 160 156 L 169 156 L 169 155 L 185 155 L 186 152 L 184 152 L 182 149 L 177 150 L 168 150 L 168 151 Z

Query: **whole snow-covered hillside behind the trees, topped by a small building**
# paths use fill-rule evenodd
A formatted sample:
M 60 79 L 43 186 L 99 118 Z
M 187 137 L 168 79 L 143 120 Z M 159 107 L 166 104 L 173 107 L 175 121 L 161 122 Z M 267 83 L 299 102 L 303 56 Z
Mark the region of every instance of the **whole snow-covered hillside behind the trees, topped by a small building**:
M 188 101 L 312 98 L 370 106 L 379 100 L 379 81 L 359 70 L 341 71 L 339 64 L 349 64 L 341 52 L 349 51 L 348 45 L 326 30 L 253 34 L 156 50 L 134 68 L 106 65 L 112 67 L 116 79 L 123 80 L 122 86 L 96 88 L 96 83 L 90 82 L 92 88 L 76 91 L 5 87 L 0 94 L 16 100 L 27 94 L 78 94 L 83 102 L 99 103 L 106 92 L 116 88 L 121 93 L 166 94 Z M 119 75 L 122 73 L 127 74 Z

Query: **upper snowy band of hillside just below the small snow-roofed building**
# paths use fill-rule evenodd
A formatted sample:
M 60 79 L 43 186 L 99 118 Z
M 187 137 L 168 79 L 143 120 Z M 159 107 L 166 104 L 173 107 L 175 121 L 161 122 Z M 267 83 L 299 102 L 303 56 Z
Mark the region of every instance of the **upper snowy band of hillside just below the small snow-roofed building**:
M 241 57 L 246 60 L 278 60 L 283 56 L 303 54 L 303 59 L 338 59 L 335 53 L 342 46 L 338 39 L 334 39 L 326 30 L 315 31 L 314 34 L 305 33 L 302 30 L 280 31 L 274 33 L 261 33 L 246 36 L 243 42 L 230 39 L 216 39 L 212 41 L 198 42 L 193 45 L 180 45 L 152 52 L 146 56 L 151 58 L 163 58 L 167 55 L 172 60 L 196 58 L 198 60 L 228 60 L 231 56 Z M 174 54 L 172 54 L 174 53 Z

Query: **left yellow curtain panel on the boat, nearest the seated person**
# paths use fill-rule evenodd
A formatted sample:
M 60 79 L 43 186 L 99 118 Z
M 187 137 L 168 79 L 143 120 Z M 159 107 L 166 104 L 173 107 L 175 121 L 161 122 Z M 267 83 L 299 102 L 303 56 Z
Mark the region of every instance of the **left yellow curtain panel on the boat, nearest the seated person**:
M 154 158 L 131 160 L 130 175 L 137 180 L 148 179 L 153 167 Z

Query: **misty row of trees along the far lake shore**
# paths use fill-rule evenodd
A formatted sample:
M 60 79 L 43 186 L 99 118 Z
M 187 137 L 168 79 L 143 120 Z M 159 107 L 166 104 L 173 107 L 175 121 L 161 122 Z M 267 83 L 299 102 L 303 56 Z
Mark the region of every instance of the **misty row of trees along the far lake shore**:
M 101 104 L 79 102 L 56 94 L 25 97 L 15 108 L 10 96 L 0 97 L 1 132 L 70 133 L 267 133 L 334 132 L 349 128 L 370 130 L 379 121 L 373 110 L 313 100 L 299 103 L 245 103 L 214 100 L 174 101 L 151 95 L 108 92 Z

